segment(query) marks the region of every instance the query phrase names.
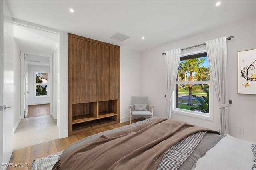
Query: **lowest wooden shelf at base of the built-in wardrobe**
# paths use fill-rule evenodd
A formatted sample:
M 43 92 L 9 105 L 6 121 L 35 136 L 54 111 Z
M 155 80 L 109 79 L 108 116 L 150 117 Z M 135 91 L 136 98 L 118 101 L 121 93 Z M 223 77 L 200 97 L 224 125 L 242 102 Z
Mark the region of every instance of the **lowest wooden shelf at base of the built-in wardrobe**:
M 97 128 L 102 128 L 102 127 L 114 125 L 114 124 L 117 124 L 117 123 L 118 123 L 118 121 L 110 119 L 109 117 L 105 117 L 105 118 L 102 118 L 102 119 L 95 119 L 95 120 L 92 120 L 92 121 L 73 124 L 72 135 L 83 133 L 83 132 L 86 132 L 86 131 L 89 131 L 89 130 L 94 130 L 94 129 L 97 129 Z

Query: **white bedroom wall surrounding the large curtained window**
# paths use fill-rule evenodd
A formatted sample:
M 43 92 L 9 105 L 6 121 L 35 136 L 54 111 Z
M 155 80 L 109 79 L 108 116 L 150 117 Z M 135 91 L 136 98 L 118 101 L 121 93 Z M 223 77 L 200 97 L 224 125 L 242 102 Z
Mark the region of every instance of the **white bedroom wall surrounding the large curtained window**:
M 154 105 L 154 115 L 166 116 L 166 73 L 163 52 L 175 48 L 190 47 L 222 36 L 234 36 L 228 41 L 228 85 L 229 99 L 233 104 L 229 107 L 230 135 L 256 143 L 256 96 L 237 94 L 237 51 L 256 48 L 256 18 L 248 18 L 240 22 L 172 42 L 142 53 L 142 95 L 148 95 Z M 173 33 L 175 34 L 175 33 Z M 218 130 L 219 109 L 214 96 L 214 120 L 206 121 L 194 117 L 172 114 L 172 118 L 188 123 Z M 239 134 L 238 126 L 244 127 L 244 134 Z

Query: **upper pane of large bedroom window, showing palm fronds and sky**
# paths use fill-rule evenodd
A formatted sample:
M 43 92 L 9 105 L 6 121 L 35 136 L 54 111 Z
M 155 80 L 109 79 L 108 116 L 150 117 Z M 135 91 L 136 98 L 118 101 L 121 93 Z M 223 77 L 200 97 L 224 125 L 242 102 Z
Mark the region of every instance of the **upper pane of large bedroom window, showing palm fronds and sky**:
M 180 61 L 178 81 L 208 80 L 210 80 L 210 69 L 207 56 Z

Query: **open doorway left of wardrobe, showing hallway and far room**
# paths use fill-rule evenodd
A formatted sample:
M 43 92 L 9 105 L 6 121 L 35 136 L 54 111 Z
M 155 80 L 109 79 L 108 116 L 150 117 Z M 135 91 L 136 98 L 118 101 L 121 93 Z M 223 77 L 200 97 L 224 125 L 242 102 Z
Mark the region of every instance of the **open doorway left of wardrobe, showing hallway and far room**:
M 14 130 L 14 150 L 58 138 L 56 49 L 59 34 L 14 23 L 21 51 L 20 122 Z M 14 113 L 16 114 L 16 113 Z

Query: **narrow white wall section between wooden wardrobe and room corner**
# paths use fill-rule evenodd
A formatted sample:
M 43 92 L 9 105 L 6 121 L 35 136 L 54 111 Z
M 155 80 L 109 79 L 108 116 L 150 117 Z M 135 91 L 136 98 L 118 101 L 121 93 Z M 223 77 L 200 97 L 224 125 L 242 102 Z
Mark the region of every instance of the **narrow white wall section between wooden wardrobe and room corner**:
M 140 96 L 142 87 L 141 52 L 120 47 L 120 117 L 130 120 L 131 96 Z

